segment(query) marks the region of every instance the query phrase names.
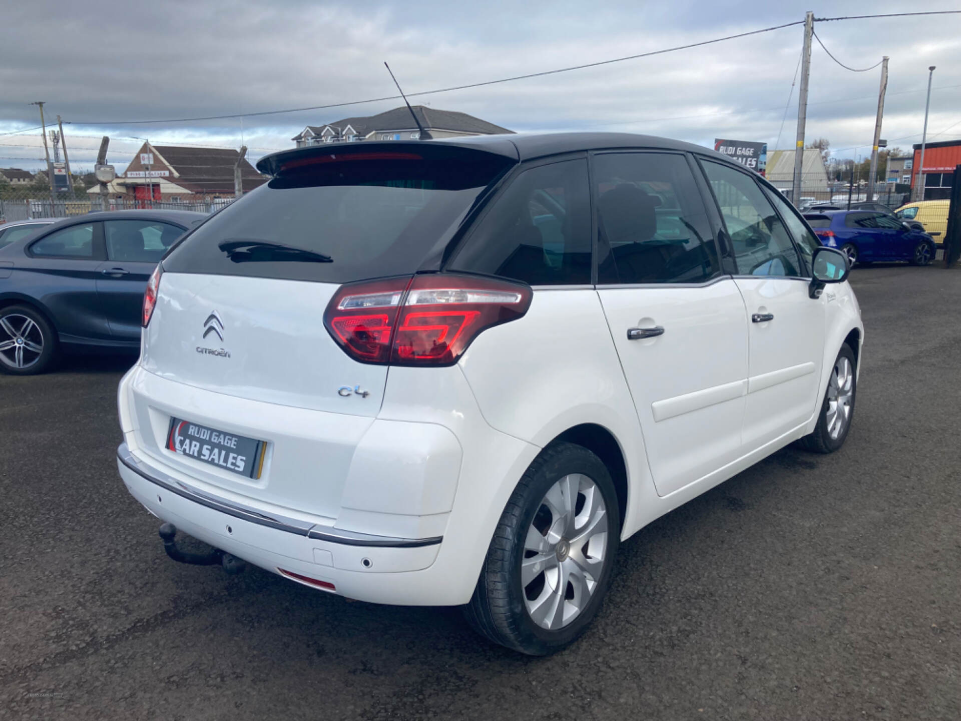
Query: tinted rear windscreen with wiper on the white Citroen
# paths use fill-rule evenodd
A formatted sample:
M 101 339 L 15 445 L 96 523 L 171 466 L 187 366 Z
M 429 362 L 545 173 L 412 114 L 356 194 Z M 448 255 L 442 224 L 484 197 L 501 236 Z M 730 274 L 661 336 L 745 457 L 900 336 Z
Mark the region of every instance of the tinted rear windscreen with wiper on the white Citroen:
M 163 268 L 324 283 L 413 273 L 513 162 L 432 149 L 308 155 L 212 216 Z

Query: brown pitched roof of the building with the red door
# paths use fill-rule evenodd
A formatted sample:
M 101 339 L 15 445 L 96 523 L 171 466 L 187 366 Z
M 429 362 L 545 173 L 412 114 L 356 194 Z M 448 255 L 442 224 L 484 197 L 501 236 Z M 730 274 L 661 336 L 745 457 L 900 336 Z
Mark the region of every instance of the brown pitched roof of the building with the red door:
M 151 147 L 177 172 L 177 178 L 171 180 L 178 186 L 195 193 L 234 192 L 234 165 L 240 151 L 152 143 Z M 264 183 L 264 178 L 246 158 L 240 163 L 240 178 L 244 192 Z

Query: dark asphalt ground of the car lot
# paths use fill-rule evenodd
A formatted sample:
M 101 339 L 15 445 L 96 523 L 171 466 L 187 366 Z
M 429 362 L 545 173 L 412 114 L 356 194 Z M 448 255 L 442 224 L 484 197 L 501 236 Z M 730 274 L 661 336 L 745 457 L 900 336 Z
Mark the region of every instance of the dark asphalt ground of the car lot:
M 114 465 L 131 361 L 0 376 L 0 716 L 961 717 L 961 271 L 852 284 L 845 447 L 784 449 L 634 535 L 593 627 L 549 659 L 457 609 L 168 560 Z

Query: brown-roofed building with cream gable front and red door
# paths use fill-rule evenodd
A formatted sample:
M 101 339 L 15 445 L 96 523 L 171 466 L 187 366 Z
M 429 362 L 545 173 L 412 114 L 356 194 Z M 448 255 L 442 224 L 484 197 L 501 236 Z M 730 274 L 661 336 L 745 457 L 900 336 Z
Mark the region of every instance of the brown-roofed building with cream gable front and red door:
M 153 162 L 142 162 L 152 155 Z M 153 145 L 144 143 L 134 161 L 111 184 L 123 190 L 125 200 L 164 202 L 209 202 L 215 198 L 234 197 L 234 166 L 240 152 L 233 148 L 198 148 L 185 145 Z M 240 161 L 243 191 L 249 192 L 266 182 L 245 158 Z M 87 192 L 99 192 L 93 186 Z

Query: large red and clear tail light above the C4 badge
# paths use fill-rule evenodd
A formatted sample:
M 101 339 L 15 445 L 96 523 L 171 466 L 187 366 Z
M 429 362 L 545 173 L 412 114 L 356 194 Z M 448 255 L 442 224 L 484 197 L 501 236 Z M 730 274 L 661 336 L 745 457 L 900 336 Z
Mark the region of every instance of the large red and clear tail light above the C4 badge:
M 451 365 L 480 333 L 522 317 L 529 286 L 468 275 L 417 275 L 343 286 L 324 323 L 353 359 Z

